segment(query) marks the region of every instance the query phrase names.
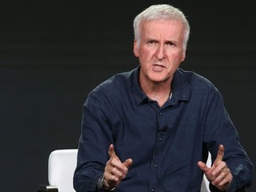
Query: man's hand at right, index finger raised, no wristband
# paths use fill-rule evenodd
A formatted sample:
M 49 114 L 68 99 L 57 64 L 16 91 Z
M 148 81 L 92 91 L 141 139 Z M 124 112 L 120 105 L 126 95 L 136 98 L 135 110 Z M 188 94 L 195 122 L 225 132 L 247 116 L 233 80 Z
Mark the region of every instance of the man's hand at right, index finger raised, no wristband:
M 212 164 L 212 167 L 207 167 L 204 162 L 199 161 L 198 166 L 204 172 L 206 178 L 212 183 L 213 186 L 225 191 L 230 186 L 233 176 L 228 169 L 225 162 L 222 161 L 224 156 L 224 147 L 220 145 L 218 155 Z

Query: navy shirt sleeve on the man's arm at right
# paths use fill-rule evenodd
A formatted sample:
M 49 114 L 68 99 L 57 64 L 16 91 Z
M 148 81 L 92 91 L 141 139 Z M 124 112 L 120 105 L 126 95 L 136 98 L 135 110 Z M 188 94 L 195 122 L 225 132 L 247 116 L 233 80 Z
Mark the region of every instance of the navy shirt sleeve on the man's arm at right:
M 223 161 L 228 164 L 233 175 L 233 181 L 228 192 L 249 187 L 252 184 L 252 162 L 241 146 L 228 112 L 224 107 L 224 101 L 217 89 L 212 89 L 209 94 L 208 109 L 205 115 L 204 141 L 212 154 L 212 162 L 217 156 L 218 148 L 222 144 L 225 148 Z M 212 185 L 211 191 L 220 191 Z

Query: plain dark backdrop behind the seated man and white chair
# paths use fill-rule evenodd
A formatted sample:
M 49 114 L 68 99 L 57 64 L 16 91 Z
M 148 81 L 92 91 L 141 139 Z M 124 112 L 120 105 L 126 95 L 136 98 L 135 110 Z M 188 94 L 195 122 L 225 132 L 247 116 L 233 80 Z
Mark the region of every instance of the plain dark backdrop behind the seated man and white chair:
M 77 148 L 88 92 L 138 65 L 133 18 L 160 3 L 188 16 L 182 68 L 218 87 L 256 164 L 253 1 L 8 1 L 0 3 L 1 191 L 48 184 L 51 151 Z M 256 191 L 255 178 L 247 191 Z

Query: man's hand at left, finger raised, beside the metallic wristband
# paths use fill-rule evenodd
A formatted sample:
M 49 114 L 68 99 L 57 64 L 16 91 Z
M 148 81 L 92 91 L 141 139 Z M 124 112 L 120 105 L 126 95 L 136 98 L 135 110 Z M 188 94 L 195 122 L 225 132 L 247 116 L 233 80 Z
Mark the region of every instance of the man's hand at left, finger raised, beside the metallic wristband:
M 114 149 L 114 145 L 111 144 L 108 148 L 109 160 L 105 166 L 104 178 L 106 189 L 116 188 L 121 180 L 123 180 L 129 170 L 129 167 L 132 165 L 132 159 L 126 159 L 122 163 Z

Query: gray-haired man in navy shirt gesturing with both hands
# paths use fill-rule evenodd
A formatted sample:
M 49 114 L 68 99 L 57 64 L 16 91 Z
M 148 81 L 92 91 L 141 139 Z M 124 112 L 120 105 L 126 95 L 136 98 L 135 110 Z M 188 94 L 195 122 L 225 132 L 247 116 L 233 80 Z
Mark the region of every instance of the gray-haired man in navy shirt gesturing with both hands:
M 250 186 L 252 162 L 220 92 L 179 68 L 189 36 L 184 14 L 153 5 L 133 28 L 140 66 L 100 84 L 84 103 L 76 191 L 193 192 L 204 173 L 212 191 Z

